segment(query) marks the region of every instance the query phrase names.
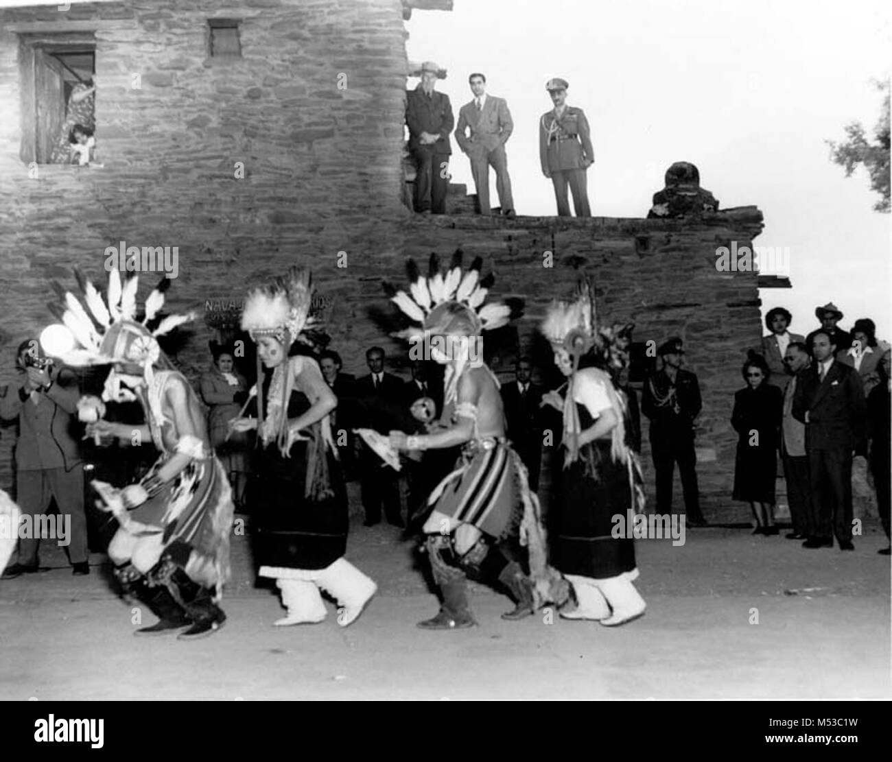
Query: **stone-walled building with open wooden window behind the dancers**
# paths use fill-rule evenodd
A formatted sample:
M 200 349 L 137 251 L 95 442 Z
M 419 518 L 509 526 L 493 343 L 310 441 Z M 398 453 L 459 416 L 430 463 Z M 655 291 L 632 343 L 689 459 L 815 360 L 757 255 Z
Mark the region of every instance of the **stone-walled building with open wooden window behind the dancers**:
M 402 283 L 407 256 L 448 259 L 461 248 L 495 271 L 496 293 L 526 299 L 517 346 L 496 358 L 500 373 L 518 348 L 549 365 L 535 326 L 582 269 L 605 320 L 634 322 L 635 340 L 655 346 L 681 336 L 704 399 L 706 516 L 745 507 L 731 508 L 730 417 L 739 367 L 762 333 L 758 274 L 717 271 L 715 250 L 751 245 L 763 226 L 758 209 L 508 220 L 474 217 L 453 196 L 454 213 L 415 216 L 404 202 L 404 22 L 413 9 L 450 10 L 451 0 L 59 7 L 0 11 L 0 385 L 16 381 L 19 342 L 54 322 L 50 281 L 73 285 L 78 266 L 104 282 L 108 247 L 176 247 L 176 311 L 237 307 L 248 283 L 310 266 L 332 346 L 351 373 L 365 370 L 372 344 L 403 362 L 405 348 L 387 335 L 394 311 L 382 280 Z M 65 103 L 91 79 L 101 166 L 49 163 Z M 161 274 L 141 279 L 141 299 Z M 196 322 L 175 356 L 190 377 L 211 361 L 212 325 L 212 315 Z M 643 438 L 652 481 L 646 426 Z M 14 429 L 4 428 L 3 488 L 13 482 L 13 443 Z

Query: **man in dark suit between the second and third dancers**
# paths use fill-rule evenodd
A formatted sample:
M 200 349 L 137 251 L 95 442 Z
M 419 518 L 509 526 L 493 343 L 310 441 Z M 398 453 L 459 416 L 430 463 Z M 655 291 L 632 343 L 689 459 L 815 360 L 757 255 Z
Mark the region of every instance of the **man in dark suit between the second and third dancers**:
M 384 349 L 368 349 L 366 363 L 371 373 L 356 381 L 363 423 L 381 434 L 388 434 L 403 420 L 403 382 L 384 371 Z M 380 523 L 381 508 L 384 506 L 387 522 L 395 527 L 403 526 L 399 474 L 365 445 L 362 446 L 359 468 L 362 506 L 366 510 L 365 525 L 371 527 Z

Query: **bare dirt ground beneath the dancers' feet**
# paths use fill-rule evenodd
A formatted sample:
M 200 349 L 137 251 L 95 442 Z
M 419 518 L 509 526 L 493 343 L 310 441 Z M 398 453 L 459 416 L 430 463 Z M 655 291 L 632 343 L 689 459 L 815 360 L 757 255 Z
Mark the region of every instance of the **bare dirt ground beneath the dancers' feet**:
M 272 627 L 274 591 L 253 586 L 235 537 L 228 620 L 205 640 L 136 638 L 104 557 L 0 582 L 0 698 L 91 699 L 876 699 L 890 686 L 889 557 L 868 524 L 855 552 L 805 550 L 747 528 L 637 542 L 646 616 L 624 627 L 549 612 L 506 622 L 508 599 L 472 588 L 479 627 L 415 627 L 437 602 L 398 529 L 351 526 L 348 558 L 379 592 L 351 627 Z

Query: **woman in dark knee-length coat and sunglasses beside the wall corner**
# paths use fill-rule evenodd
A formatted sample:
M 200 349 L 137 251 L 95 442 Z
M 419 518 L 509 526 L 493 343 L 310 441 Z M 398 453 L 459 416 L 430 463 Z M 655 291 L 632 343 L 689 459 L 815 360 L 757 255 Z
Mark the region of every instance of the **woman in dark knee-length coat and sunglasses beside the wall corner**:
M 731 425 L 739 434 L 734 463 L 735 500 L 749 503 L 756 516 L 754 535 L 776 535 L 774 483 L 783 395 L 767 383 L 771 371 L 764 357 L 750 352 L 743 365 L 744 389 L 734 395 Z

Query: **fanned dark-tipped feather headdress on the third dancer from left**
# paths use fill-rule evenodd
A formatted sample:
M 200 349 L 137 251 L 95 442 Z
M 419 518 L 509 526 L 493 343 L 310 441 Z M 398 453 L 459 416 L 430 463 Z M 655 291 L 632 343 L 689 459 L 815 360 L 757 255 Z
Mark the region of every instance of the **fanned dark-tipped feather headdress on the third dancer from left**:
M 409 292 L 397 291 L 384 283 L 392 302 L 400 307 L 414 325 L 394 334 L 413 340 L 428 334 L 479 336 L 483 331 L 501 328 L 518 317 L 524 303 L 521 299 L 504 299 L 484 304 L 495 283 L 495 276 L 480 276 L 483 259 L 477 257 L 466 271 L 462 270 L 462 252 L 452 255 L 450 266 L 440 270 L 440 258 L 431 254 L 427 275 L 422 275 L 414 259 L 406 263 Z

